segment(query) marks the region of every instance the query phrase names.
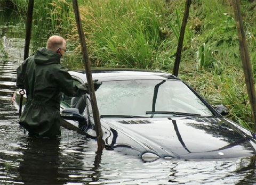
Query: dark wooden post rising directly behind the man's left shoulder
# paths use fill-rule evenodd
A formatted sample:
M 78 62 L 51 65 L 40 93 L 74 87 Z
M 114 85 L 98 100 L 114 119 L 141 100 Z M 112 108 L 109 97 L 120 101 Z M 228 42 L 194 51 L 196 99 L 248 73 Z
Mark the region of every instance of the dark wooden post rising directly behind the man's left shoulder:
M 24 47 L 24 60 L 29 55 L 29 44 L 31 38 L 31 26 L 33 20 L 33 8 L 34 8 L 34 0 L 29 0 L 28 2 L 28 12 L 27 12 L 27 21 L 26 21 L 26 38 L 25 38 L 25 47 Z

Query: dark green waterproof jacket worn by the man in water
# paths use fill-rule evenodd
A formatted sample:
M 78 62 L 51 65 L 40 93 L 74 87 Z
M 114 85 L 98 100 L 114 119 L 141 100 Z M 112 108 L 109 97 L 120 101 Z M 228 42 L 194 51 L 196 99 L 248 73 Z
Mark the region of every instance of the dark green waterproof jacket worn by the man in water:
M 19 66 L 17 86 L 27 94 L 19 123 L 32 136 L 60 135 L 61 93 L 67 96 L 87 93 L 85 85 L 73 87 L 73 79 L 60 65 L 60 56 L 46 48 L 39 49 Z

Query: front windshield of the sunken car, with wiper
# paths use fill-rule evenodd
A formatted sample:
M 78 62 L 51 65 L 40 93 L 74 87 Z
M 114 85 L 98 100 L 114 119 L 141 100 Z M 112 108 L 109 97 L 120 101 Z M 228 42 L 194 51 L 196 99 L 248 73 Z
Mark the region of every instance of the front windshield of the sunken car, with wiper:
M 179 80 L 105 81 L 95 94 L 102 116 L 212 115 Z

